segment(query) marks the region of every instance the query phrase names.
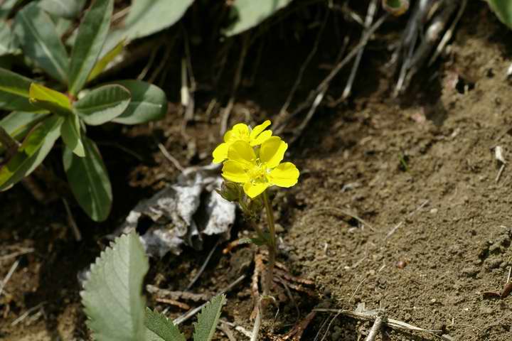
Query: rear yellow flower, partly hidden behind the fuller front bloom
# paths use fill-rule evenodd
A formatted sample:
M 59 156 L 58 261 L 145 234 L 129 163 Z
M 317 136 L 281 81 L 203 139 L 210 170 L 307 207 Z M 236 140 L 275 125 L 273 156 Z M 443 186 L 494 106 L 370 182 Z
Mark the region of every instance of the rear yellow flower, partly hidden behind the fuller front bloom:
M 265 130 L 270 126 L 270 120 L 263 122 L 254 129 L 250 129 L 247 124 L 235 124 L 233 128 L 224 134 L 224 143 L 218 145 L 213 151 L 213 163 L 221 163 L 228 158 L 228 151 L 236 141 L 245 141 L 250 146 L 258 146 L 272 136 L 271 130 Z

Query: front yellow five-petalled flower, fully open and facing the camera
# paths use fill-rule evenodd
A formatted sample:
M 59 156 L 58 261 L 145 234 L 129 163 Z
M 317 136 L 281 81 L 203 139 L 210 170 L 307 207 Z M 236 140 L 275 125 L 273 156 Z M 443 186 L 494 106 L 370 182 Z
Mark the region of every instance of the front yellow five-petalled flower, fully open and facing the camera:
M 247 141 L 235 141 L 228 150 L 223 177 L 242 183 L 245 194 L 251 198 L 272 185 L 292 187 L 299 179 L 299 170 L 291 162 L 281 163 L 287 148 L 277 136 L 266 139 L 258 153 Z

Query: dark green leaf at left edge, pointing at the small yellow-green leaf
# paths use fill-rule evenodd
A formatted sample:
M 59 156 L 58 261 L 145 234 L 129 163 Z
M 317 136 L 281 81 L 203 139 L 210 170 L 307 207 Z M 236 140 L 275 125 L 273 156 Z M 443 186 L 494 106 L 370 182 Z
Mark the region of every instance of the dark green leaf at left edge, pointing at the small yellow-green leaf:
M 29 78 L 0 68 L 0 108 L 23 112 L 40 111 L 28 101 L 28 90 L 32 82 Z

